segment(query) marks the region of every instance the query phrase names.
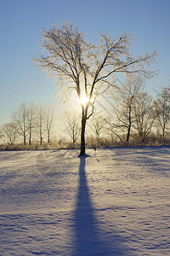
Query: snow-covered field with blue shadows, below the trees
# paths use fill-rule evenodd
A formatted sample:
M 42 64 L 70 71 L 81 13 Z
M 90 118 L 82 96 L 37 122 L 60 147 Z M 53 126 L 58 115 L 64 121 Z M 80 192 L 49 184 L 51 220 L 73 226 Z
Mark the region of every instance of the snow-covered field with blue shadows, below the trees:
M 170 255 L 170 148 L 0 152 L 0 255 Z

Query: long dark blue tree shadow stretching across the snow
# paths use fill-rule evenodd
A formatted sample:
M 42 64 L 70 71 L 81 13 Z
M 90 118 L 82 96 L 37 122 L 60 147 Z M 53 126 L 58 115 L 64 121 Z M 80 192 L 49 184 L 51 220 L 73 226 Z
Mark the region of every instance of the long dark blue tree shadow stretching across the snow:
M 100 223 L 94 215 L 94 207 L 88 190 L 85 165 L 86 158 L 80 157 L 77 206 L 73 220 L 75 230 L 74 256 L 128 255 L 127 250 L 122 248 L 120 243 L 122 237 L 117 236 L 116 232 L 113 231 L 110 241 L 104 241 L 101 237 Z

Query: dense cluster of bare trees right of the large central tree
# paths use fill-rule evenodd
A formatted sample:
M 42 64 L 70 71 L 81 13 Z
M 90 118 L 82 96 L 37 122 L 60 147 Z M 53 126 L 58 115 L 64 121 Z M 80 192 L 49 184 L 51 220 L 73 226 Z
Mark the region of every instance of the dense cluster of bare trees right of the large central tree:
M 123 144 L 170 142 L 170 88 L 162 88 L 154 99 L 144 91 L 143 79 L 127 80 L 107 102 L 107 116 L 94 118 L 98 141 L 105 131 Z

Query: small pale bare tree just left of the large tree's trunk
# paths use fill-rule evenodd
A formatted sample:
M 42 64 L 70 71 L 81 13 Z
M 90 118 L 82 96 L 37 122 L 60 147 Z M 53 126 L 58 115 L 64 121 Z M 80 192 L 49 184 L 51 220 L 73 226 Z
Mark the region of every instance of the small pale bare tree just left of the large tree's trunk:
M 78 113 L 71 113 L 69 111 L 64 114 L 64 123 L 65 123 L 65 134 L 71 137 L 72 147 L 75 148 L 75 143 L 80 135 L 80 120 Z

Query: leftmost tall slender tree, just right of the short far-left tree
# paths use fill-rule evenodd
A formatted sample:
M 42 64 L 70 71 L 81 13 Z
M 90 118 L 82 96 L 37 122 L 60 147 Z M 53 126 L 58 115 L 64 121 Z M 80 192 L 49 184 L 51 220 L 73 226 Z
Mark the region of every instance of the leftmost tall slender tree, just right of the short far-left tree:
M 26 145 L 26 134 L 28 131 L 27 126 L 28 108 L 27 103 L 22 102 L 20 107 L 14 112 L 13 119 L 16 124 L 18 133 L 23 137 L 24 145 Z

